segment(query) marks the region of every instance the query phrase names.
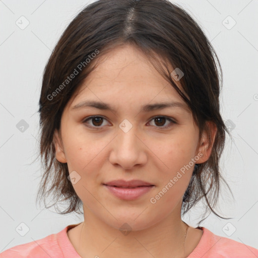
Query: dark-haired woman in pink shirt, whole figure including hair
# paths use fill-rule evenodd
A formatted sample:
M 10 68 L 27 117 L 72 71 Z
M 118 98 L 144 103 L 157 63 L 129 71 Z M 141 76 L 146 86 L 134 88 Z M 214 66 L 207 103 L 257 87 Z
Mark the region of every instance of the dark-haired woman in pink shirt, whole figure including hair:
M 60 214 L 83 207 L 84 221 L 1 257 L 257 256 L 181 219 L 202 199 L 219 216 L 219 72 L 201 28 L 168 1 L 82 10 L 44 71 L 38 198 L 68 202 Z

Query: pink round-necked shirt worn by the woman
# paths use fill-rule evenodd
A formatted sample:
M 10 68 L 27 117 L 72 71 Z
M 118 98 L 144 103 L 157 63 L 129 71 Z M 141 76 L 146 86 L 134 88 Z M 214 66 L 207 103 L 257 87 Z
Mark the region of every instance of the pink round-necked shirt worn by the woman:
M 67 231 L 78 224 L 69 225 L 56 234 L 42 239 L 20 244 L 0 253 L 0 258 L 80 258 L 70 242 Z M 258 249 L 235 240 L 213 234 L 204 227 L 203 235 L 197 247 L 187 256 L 188 258 L 257 258 Z

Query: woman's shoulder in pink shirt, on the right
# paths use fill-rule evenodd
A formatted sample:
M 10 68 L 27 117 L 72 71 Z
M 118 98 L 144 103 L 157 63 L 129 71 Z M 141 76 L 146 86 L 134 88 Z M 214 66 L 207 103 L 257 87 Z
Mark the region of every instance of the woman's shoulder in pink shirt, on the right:
M 207 228 L 201 227 L 203 236 L 197 247 L 189 254 L 188 258 L 257 258 L 258 249 L 235 241 L 233 239 L 215 235 Z

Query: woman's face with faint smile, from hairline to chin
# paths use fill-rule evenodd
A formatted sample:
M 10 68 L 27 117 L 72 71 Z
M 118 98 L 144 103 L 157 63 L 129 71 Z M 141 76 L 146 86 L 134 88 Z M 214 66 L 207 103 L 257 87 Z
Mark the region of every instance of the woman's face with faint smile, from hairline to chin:
M 178 93 L 128 45 L 106 54 L 78 93 L 63 111 L 55 148 L 57 160 L 68 164 L 85 213 L 133 230 L 180 218 L 194 164 L 209 153 L 205 142 L 199 147 L 199 129 Z M 153 186 L 104 185 L 134 179 Z

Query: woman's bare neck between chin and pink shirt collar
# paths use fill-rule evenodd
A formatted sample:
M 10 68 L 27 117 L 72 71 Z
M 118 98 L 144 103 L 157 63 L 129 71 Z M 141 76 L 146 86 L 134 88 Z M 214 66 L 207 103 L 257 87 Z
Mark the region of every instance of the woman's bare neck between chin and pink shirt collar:
M 186 257 L 187 224 L 174 213 L 148 228 L 126 231 L 126 225 L 125 230 L 110 226 L 84 207 L 84 222 L 79 226 L 76 249 L 82 257 Z

